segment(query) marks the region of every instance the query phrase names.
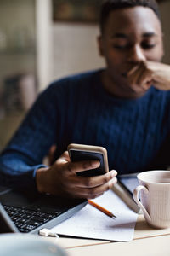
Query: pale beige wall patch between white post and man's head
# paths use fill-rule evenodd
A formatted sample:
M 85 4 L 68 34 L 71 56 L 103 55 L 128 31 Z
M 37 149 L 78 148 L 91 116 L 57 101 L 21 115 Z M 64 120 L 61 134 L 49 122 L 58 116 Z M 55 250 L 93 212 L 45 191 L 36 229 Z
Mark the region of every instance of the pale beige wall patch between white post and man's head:
M 53 79 L 103 67 L 99 56 L 96 25 L 54 23 Z

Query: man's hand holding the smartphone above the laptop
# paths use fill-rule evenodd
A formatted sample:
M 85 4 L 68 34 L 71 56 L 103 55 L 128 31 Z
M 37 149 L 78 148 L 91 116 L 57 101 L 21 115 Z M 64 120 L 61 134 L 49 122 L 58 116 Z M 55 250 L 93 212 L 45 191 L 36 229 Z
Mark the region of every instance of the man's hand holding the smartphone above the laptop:
M 93 199 L 116 183 L 115 170 L 96 177 L 77 176 L 77 172 L 86 172 L 97 167 L 97 160 L 71 162 L 68 152 L 65 151 L 52 166 L 37 170 L 37 190 L 52 195 Z

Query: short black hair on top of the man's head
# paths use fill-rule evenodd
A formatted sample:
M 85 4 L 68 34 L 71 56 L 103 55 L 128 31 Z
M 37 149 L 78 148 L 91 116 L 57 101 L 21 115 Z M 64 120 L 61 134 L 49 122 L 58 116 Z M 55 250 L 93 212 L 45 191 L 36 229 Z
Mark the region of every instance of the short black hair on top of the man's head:
M 105 0 L 100 7 L 99 26 L 100 32 L 103 33 L 105 29 L 105 22 L 111 11 L 115 9 L 123 9 L 135 6 L 144 6 L 152 9 L 161 20 L 158 4 L 155 0 Z

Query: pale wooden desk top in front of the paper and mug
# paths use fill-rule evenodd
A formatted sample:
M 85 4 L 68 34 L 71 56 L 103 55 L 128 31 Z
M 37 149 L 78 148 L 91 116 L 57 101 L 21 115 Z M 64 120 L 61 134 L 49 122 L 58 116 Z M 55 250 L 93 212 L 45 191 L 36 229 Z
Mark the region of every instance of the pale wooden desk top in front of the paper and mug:
M 169 256 L 170 228 L 156 230 L 139 215 L 133 241 L 113 242 L 79 238 L 47 238 L 64 247 L 68 256 Z

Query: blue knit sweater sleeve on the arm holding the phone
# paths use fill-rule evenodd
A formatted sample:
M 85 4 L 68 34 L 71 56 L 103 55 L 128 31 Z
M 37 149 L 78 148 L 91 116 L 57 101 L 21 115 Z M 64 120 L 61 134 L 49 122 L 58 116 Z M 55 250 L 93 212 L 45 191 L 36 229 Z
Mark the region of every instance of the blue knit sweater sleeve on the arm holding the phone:
M 56 137 L 54 85 L 37 98 L 0 156 L 0 184 L 17 189 L 36 189 L 35 175 Z M 53 127 L 53 129 L 52 129 Z

